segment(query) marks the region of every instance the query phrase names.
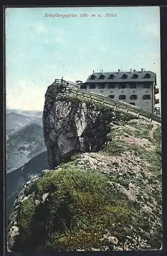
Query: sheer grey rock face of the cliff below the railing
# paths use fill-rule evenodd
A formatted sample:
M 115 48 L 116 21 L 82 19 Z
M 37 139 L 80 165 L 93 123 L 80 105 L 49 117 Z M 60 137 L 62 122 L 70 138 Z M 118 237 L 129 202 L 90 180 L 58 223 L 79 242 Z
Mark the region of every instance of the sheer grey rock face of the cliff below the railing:
M 102 113 L 90 102 L 57 94 L 51 84 L 45 94 L 43 134 L 50 168 L 69 161 L 75 152 L 97 152 L 106 141 L 108 124 L 123 119 L 118 111 Z

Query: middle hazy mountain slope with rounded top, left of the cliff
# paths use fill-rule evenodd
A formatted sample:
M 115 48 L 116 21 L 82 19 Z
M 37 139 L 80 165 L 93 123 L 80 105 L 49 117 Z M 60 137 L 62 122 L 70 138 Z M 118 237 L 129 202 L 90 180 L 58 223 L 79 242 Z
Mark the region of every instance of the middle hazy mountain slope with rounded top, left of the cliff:
M 44 152 L 42 126 L 37 123 L 27 124 L 19 131 L 8 136 L 7 141 L 7 173 L 19 168 L 30 158 Z

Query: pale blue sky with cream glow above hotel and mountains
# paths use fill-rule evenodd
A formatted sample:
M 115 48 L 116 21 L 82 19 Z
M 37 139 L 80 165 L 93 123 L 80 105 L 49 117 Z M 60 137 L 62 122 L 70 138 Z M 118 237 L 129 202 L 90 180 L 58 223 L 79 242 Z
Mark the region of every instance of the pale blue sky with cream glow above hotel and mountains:
M 42 111 L 55 78 L 93 70 L 144 68 L 160 89 L 159 7 L 6 8 L 5 20 L 7 109 Z

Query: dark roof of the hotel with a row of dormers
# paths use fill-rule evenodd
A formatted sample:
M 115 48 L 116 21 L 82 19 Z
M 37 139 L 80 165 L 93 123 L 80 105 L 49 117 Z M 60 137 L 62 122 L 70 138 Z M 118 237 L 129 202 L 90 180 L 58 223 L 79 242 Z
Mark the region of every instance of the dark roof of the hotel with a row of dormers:
M 146 74 L 150 74 L 150 78 L 144 78 Z M 127 75 L 126 79 L 122 78 L 122 75 Z M 138 75 L 137 78 L 132 78 L 133 75 Z M 91 76 L 96 76 L 95 79 L 90 79 Z M 104 75 L 104 79 L 99 79 L 100 75 Z M 110 75 L 114 75 L 114 79 L 109 79 Z M 103 73 L 93 73 L 91 74 L 86 82 L 97 83 L 97 82 L 142 82 L 142 81 L 155 81 L 156 74 L 152 71 L 129 71 L 129 72 L 103 72 Z

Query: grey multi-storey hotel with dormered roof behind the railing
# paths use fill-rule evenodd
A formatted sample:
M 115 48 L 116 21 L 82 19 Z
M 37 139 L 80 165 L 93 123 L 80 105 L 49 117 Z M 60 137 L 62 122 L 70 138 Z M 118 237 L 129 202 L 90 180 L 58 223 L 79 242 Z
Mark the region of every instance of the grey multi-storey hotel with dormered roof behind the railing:
M 80 89 L 132 104 L 145 111 L 158 114 L 156 104 L 159 93 L 156 74 L 152 71 L 99 72 L 91 74 Z

